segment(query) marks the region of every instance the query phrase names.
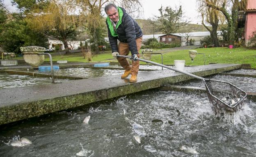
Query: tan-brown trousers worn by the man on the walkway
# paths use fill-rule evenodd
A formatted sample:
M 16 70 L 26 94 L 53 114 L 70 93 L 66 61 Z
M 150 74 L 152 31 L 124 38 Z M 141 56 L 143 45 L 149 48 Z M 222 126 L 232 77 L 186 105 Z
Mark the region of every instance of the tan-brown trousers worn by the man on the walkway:
M 142 37 L 136 39 L 136 44 L 137 44 L 137 50 L 139 53 L 139 49 L 142 46 Z M 119 55 L 128 55 L 129 52 L 130 52 L 130 50 L 129 50 L 128 43 L 119 42 L 119 44 L 118 44 Z M 138 57 L 139 57 L 139 54 L 138 54 Z M 130 67 L 129 62 L 124 57 L 117 57 L 117 60 L 126 71 L 131 70 L 131 74 L 137 76 L 138 71 L 139 71 L 139 61 L 138 60 L 137 61 L 132 60 L 132 67 Z

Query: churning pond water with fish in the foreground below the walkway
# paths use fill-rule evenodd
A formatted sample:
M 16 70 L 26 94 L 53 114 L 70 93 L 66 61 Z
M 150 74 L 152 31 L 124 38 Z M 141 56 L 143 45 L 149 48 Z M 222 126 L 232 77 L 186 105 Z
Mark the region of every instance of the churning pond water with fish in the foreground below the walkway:
M 217 119 L 205 94 L 144 91 L 1 126 L 0 156 L 252 157 L 255 105 L 246 101 L 242 111 Z M 33 144 L 5 144 L 17 137 Z

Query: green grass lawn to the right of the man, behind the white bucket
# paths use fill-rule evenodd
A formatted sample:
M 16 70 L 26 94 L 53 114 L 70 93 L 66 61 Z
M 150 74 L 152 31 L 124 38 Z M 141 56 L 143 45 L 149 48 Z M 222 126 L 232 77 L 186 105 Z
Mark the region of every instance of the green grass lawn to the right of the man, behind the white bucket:
M 256 68 L 256 50 L 245 48 L 200 48 L 197 53 L 205 53 L 206 65 L 209 63 L 247 63 Z M 174 64 L 174 60 L 185 60 L 186 65 L 203 65 L 203 55 L 197 54 L 191 62 L 188 50 L 174 51 L 163 55 L 164 64 Z M 153 55 L 151 61 L 161 63 L 160 55 Z

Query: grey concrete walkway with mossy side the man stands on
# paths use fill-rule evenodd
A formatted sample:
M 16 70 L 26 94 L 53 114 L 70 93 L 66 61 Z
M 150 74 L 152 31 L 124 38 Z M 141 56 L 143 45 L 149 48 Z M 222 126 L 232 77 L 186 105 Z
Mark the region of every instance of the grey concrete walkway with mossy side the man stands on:
M 206 76 L 238 68 L 241 64 L 210 64 L 185 67 L 185 71 Z M 0 89 L 0 125 L 190 79 L 175 71 L 159 70 L 139 73 L 136 83 L 113 75 Z

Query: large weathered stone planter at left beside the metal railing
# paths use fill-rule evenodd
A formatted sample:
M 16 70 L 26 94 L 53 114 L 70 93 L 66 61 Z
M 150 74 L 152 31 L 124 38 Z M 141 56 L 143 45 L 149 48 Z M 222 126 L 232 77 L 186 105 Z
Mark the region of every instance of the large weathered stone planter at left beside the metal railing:
M 46 51 L 46 49 L 40 46 L 21 47 L 21 52 L 23 53 L 23 58 L 25 62 L 27 64 L 30 64 L 33 68 L 38 68 L 38 66 L 44 61 L 44 55 L 35 54 L 44 53 L 44 51 Z

